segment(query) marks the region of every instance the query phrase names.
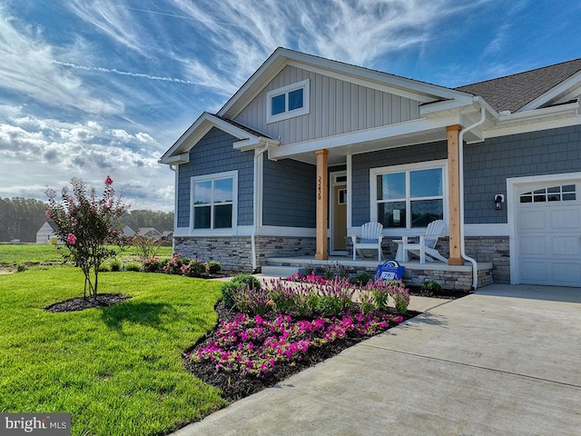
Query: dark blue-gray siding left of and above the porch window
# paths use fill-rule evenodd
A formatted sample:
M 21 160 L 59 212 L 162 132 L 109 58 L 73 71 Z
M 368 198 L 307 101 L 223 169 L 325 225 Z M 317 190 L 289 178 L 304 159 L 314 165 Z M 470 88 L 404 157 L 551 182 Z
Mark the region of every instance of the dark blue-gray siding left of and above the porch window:
M 353 178 L 352 225 L 358 226 L 367 223 L 371 219 L 376 219 L 369 216 L 369 170 L 371 168 L 436 161 L 447 157 L 448 145 L 446 142 L 419 144 L 353 155 L 351 161 Z

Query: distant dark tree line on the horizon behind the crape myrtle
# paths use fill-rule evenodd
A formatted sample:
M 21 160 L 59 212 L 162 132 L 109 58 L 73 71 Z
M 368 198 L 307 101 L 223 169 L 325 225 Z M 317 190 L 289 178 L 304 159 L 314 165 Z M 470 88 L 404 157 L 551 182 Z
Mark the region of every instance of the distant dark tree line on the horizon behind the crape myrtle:
M 46 221 L 46 204 L 33 198 L 0 197 L 0 242 L 20 240 L 35 243 L 36 232 Z M 173 230 L 173 213 L 138 210 L 124 213 L 122 227 L 129 225 L 133 231 L 140 227 L 155 227 L 160 232 Z

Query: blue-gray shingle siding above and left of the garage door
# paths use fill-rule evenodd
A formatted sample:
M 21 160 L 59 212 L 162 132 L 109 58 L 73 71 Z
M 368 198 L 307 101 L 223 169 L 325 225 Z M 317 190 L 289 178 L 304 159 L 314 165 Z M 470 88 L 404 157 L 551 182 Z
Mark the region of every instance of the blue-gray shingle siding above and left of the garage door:
M 495 211 L 493 203 L 507 194 L 507 178 L 581 171 L 581 125 L 466 145 L 464 171 L 465 222 L 507 223 L 509 206 Z

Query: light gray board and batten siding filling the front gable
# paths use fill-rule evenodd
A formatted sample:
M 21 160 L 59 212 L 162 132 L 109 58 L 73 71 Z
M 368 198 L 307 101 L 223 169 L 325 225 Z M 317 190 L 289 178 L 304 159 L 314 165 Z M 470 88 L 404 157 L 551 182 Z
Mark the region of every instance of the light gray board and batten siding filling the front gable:
M 307 79 L 310 114 L 268 124 L 266 94 Z M 418 118 L 419 102 L 415 100 L 287 65 L 234 121 L 280 138 L 284 146 Z

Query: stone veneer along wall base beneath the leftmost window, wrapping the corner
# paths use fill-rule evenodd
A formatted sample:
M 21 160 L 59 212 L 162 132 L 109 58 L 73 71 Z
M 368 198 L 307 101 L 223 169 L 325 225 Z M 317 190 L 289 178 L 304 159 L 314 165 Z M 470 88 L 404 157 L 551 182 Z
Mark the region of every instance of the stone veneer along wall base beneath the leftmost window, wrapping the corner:
M 312 256 L 316 252 L 315 238 L 257 236 L 258 265 L 271 256 Z M 252 271 L 250 236 L 174 237 L 173 253 L 182 257 L 218 261 L 222 269 L 235 272 Z

